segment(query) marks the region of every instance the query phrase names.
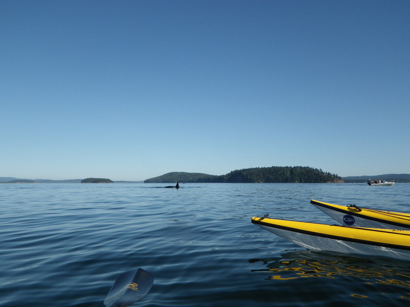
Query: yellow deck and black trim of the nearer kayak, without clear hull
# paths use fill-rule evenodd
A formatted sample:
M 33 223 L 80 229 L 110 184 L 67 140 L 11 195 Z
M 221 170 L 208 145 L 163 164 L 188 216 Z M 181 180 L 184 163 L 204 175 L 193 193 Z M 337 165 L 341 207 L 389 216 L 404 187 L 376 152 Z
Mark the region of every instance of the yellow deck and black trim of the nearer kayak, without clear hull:
M 340 225 L 278 220 L 274 218 L 262 219 L 260 217 L 252 217 L 252 223 L 258 226 L 276 228 L 315 237 L 410 251 L 410 230 L 346 227 Z M 308 228 L 318 229 L 309 230 Z M 340 232 L 345 233 L 345 235 L 337 234 Z M 406 244 L 402 243 L 403 239 L 406 241 Z

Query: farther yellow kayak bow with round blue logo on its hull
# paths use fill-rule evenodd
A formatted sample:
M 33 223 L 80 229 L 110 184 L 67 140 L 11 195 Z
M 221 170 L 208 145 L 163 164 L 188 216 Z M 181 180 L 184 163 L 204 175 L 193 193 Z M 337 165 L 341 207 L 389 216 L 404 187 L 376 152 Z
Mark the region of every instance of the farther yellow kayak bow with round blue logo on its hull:
M 311 200 L 311 204 L 345 226 L 410 230 L 410 213 L 356 205 L 340 206 Z

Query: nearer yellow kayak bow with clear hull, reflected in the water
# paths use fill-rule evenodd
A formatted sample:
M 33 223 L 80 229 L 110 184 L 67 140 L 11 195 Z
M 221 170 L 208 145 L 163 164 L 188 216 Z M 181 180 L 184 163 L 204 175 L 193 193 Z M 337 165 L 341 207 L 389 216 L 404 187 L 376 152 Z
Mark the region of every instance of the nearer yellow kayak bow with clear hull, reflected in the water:
M 325 225 L 252 217 L 252 223 L 311 250 L 410 260 L 410 230 Z

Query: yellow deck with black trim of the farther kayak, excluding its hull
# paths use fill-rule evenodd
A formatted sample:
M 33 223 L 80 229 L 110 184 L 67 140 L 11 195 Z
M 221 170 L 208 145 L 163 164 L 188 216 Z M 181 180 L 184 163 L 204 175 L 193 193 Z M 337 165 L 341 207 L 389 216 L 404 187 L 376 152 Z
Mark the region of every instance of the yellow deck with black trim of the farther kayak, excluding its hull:
M 404 212 L 383 211 L 372 208 L 357 207 L 355 205 L 340 206 L 311 200 L 311 204 L 319 209 L 324 208 L 352 216 L 365 218 L 369 221 L 388 224 L 396 227 L 410 228 L 410 214 Z M 327 213 L 327 212 L 325 212 Z M 327 213 L 329 214 L 329 213 Z

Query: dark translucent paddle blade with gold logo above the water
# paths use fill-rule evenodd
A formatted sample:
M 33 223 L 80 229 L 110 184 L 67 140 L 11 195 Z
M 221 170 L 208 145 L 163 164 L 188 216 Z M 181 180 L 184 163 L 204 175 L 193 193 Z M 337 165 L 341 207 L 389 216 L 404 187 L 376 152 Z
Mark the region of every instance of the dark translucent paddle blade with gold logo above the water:
M 144 297 L 152 287 L 154 277 L 151 273 L 136 269 L 122 273 L 108 292 L 106 307 L 129 306 Z

